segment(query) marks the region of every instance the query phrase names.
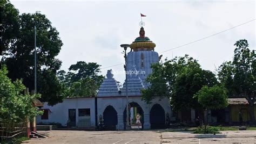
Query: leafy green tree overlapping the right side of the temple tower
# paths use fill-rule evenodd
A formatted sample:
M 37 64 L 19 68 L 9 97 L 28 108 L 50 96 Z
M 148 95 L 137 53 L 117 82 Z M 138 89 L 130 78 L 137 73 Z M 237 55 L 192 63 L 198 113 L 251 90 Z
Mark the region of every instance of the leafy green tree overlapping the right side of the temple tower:
M 143 99 L 150 103 L 156 96 L 171 97 L 177 77 L 188 69 L 199 67 L 200 64 L 197 60 L 188 55 L 152 64 L 152 74 L 146 78 L 146 82 L 149 82 L 150 86 L 142 90 Z

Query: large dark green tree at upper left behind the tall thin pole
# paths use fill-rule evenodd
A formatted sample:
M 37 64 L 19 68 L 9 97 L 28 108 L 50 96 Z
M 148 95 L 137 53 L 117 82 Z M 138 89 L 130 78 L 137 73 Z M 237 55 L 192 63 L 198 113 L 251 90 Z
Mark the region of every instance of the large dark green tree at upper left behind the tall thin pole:
M 23 84 L 30 90 L 34 88 L 34 26 L 37 26 L 37 92 L 41 93 L 42 102 L 50 105 L 62 102 L 63 85 L 57 78 L 57 70 L 61 61 L 56 59 L 62 47 L 62 41 L 49 19 L 40 13 L 22 13 L 9 1 L 1 1 L 3 16 L 3 46 L 4 57 L 12 81 L 23 79 Z

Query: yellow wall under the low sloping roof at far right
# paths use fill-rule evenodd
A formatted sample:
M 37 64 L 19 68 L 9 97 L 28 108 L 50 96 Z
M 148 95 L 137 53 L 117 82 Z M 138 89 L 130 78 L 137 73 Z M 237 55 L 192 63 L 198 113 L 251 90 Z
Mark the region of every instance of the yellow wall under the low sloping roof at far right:
M 239 112 L 242 112 L 242 121 L 250 120 L 248 105 L 230 105 L 231 107 L 231 121 L 239 122 Z M 256 105 L 254 106 L 254 114 L 256 116 Z

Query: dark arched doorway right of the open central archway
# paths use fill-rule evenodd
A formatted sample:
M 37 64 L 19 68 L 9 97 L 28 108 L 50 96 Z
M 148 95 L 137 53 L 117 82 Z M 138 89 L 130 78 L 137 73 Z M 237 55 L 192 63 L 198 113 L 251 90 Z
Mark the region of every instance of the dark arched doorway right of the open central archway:
M 154 104 L 150 110 L 150 125 L 152 129 L 165 128 L 165 112 L 160 104 Z

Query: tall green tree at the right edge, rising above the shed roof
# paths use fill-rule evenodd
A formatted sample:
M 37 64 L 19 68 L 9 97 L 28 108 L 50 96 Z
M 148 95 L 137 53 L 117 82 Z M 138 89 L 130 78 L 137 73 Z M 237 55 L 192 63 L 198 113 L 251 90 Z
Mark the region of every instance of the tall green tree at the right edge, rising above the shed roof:
M 256 54 L 248 48 L 247 40 L 235 42 L 233 61 L 219 67 L 218 77 L 225 85 L 229 96 L 245 97 L 250 106 L 250 119 L 255 122 L 254 103 L 256 96 Z

